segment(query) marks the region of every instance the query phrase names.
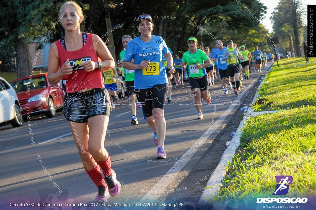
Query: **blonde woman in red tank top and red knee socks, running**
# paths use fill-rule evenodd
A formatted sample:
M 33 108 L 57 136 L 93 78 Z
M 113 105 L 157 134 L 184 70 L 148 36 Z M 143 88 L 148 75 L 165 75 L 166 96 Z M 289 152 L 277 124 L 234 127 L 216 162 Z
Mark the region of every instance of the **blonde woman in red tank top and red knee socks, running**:
M 99 36 L 80 31 L 83 14 L 79 5 L 66 2 L 59 15 L 65 36 L 50 47 L 48 81 L 54 84 L 63 77 L 67 79 L 64 115 L 84 169 L 98 188 L 95 201 L 106 202 L 110 195 L 114 197 L 121 192 L 103 146 L 110 104 L 101 71 L 113 68 L 114 59 Z M 102 62 L 98 62 L 98 57 Z

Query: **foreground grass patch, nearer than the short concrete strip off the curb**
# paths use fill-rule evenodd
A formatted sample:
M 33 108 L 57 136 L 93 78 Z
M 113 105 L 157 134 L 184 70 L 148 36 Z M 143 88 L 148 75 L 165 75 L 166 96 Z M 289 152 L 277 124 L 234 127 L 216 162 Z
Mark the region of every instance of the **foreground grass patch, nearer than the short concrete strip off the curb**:
M 315 106 L 251 118 L 243 132 L 239 152 L 212 202 L 234 204 L 273 197 L 277 175 L 293 176 L 289 193 L 283 197 L 316 195 Z

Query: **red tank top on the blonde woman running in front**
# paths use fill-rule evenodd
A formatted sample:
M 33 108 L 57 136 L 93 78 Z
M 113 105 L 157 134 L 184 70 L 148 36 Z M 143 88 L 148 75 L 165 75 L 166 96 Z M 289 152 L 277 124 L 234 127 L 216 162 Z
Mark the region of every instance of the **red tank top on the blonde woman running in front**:
M 84 89 L 90 88 L 104 88 L 102 82 L 101 70 L 95 69 L 87 72 L 80 65 L 81 62 L 94 61 L 98 62 L 98 56 L 96 55 L 92 42 L 92 34 L 88 34 L 86 44 L 79 50 L 67 51 L 60 44 L 60 41 L 55 41 L 58 49 L 59 67 L 61 68 L 67 59 L 72 66 L 72 73 L 66 76 L 66 92 L 74 93 Z

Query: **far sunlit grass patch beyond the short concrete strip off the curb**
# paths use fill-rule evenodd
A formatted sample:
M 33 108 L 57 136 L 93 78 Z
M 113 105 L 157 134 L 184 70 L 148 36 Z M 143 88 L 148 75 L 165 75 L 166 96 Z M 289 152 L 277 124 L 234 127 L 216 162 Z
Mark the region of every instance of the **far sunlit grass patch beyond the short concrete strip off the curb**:
M 310 59 L 313 61 L 316 59 Z M 255 112 L 316 105 L 316 64 L 298 65 L 306 63 L 305 58 L 283 59 L 282 62 L 283 68 L 280 63 L 279 67 L 274 63 L 265 79 L 269 83 L 259 89 L 259 97 L 270 103 L 253 107 Z

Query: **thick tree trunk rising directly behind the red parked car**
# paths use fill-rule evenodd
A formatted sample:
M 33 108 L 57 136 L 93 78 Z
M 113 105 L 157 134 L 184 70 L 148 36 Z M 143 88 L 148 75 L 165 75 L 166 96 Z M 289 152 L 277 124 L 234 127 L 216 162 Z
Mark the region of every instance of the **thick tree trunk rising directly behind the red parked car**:
M 18 78 L 30 76 L 32 70 L 31 56 L 28 46 L 23 42 L 22 38 L 15 38 L 17 59 L 16 59 L 16 75 Z

